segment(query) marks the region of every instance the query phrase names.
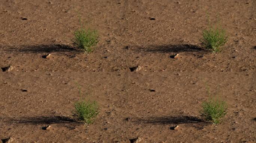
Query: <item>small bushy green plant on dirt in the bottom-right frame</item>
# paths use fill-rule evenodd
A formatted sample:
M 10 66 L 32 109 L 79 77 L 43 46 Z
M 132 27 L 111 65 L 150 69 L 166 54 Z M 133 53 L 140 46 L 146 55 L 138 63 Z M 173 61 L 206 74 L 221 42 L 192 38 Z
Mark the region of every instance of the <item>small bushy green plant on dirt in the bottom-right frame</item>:
M 214 124 L 220 123 L 220 120 L 227 114 L 228 105 L 222 101 L 217 95 L 215 97 L 210 95 L 210 90 L 207 87 L 209 99 L 202 103 L 202 110 L 200 111 L 205 120 L 211 121 Z

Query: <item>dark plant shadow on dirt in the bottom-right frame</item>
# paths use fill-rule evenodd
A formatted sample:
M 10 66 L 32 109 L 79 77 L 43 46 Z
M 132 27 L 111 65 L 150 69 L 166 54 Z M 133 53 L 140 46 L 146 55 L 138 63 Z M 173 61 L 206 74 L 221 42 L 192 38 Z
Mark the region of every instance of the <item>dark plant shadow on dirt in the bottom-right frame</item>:
M 184 125 L 185 127 L 195 127 L 202 129 L 206 125 L 212 124 L 211 122 L 202 120 L 198 117 L 193 116 L 167 116 L 167 117 L 147 117 L 144 119 L 137 118 L 132 122 L 138 124 L 149 124 L 149 125 Z

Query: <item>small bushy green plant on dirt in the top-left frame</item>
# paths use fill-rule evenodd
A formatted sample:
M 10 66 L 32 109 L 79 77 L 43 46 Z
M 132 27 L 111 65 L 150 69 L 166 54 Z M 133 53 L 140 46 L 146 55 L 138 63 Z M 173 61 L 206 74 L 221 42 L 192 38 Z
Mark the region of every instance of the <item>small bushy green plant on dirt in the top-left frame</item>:
M 80 16 L 79 23 L 81 28 L 74 32 L 72 41 L 77 48 L 82 49 L 85 53 L 91 53 L 94 50 L 95 45 L 99 42 L 98 31 L 89 26 L 88 28 L 85 28 L 82 25 Z

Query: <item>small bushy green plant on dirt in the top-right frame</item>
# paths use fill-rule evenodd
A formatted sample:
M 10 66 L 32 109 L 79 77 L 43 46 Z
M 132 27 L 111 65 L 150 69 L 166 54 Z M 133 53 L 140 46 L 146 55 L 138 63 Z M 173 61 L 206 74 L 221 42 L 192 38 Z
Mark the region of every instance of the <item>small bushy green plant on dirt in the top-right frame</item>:
M 220 20 L 217 20 L 217 23 L 211 24 L 209 15 L 208 25 L 209 29 L 205 29 L 202 32 L 202 46 L 208 50 L 211 50 L 214 53 L 220 52 L 223 45 L 228 41 L 228 35 L 226 35 L 226 30 L 220 25 Z

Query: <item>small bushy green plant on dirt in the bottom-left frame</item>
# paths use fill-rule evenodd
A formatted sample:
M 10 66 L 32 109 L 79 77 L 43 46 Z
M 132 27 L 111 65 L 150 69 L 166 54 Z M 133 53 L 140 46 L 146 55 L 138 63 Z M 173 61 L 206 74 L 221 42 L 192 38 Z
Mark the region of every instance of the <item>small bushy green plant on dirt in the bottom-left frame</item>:
M 86 124 L 93 123 L 95 117 L 100 113 L 100 107 L 98 103 L 89 98 L 83 98 L 81 96 L 81 89 L 79 87 L 79 95 L 81 99 L 74 103 L 74 110 L 72 111 L 74 116 Z

